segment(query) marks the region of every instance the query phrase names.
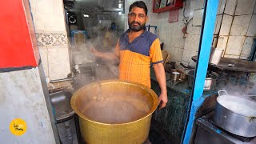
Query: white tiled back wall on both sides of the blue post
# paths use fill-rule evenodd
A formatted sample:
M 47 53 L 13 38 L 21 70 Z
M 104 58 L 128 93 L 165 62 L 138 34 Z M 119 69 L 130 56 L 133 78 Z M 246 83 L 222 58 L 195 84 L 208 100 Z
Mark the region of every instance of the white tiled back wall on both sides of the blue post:
M 128 8 L 134 0 L 126 2 Z M 153 1 L 145 0 L 149 11 L 151 26 L 158 26 L 158 38 L 165 43 L 164 49 L 171 54 L 170 61 L 183 62 L 194 65 L 191 57 L 197 55 L 202 27 L 202 12 L 204 0 L 186 0 L 183 8 L 178 9 L 178 22 L 168 22 L 170 11 L 152 13 Z M 219 0 L 216 26 L 214 30 L 213 46 L 225 50 L 228 58 L 246 59 L 251 50 L 253 38 L 256 34 L 255 0 Z M 185 26 L 185 16 L 193 18 L 187 27 L 186 38 L 183 38 L 182 28 Z M 127 16 L 126 16 L 127 23 Z M 127 24 L 125 24 L 127 28 Z

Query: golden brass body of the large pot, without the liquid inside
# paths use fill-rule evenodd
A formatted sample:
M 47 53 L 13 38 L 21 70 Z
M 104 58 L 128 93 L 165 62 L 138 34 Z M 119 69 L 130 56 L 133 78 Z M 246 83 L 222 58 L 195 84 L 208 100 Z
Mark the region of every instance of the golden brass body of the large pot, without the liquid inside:
M 83 86 L 76 91 L 71 98 L 71 107 L 79 116 L 80 130 L 82 138 L 86 143 L 138 143 L 145 142 L 150 130 L 150 120 L 152 113 L 158 107 L 158 96 L 153 90 L 139 83 L 124 82 L 119 80 L 101 81 L 102 95 L 115 91 L 121 91 L 123 94 L 141 95 L 142 100 L 146 102 L 149 111 L 132 122 L 123 123 L 105 123 L 95 122 L 83 113 L 85 106 L 89 106 L 95 101 L 95 95 L 100 90 L 98 82 Z

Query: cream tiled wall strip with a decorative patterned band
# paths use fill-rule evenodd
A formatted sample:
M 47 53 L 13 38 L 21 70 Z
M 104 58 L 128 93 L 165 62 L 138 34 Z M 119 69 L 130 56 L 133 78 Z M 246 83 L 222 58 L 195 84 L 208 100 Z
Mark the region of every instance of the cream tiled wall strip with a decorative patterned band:
M 70 58 L 63 1 L 30 0 L 30 7 L 46 77 L 66 78 L 70 74 Z

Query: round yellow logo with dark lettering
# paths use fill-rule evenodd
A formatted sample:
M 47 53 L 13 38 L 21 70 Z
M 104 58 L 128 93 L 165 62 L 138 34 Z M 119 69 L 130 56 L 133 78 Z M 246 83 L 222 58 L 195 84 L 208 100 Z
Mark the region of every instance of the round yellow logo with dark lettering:
M 21 118 L 15 118 L 10 122 L 10 132 L 16 136 L 20 136 L 26 132 L 26 122 Z

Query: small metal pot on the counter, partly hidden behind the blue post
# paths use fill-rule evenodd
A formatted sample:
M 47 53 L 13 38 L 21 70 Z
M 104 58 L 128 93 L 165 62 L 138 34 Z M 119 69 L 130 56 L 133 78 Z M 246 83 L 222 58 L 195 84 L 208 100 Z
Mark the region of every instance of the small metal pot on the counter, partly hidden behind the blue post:
M 190 87 L 192 87 L 193 86 L 193 82 L 194 82 L 194 70 L 190 70 L 188 72 L 188 85 Z M 204 91 L 206 91 L 206 90 L 213 90 L 215 84 L 216 84 L 216 78 L 214 78 L 214 76 L 207 77 L 206 80 L 205 80 L 205 84 L 203 86 L 203 90 Z

